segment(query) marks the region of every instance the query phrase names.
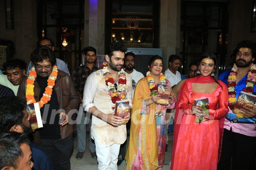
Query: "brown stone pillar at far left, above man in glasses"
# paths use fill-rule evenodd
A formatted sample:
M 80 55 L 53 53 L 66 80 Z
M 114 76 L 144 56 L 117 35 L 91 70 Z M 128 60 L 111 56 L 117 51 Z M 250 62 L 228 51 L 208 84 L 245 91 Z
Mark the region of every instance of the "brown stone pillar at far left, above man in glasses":
M 15 56 L 28 63 L 31 53 L 37 46 L 36 1 L 22 0 L 13 2 Z

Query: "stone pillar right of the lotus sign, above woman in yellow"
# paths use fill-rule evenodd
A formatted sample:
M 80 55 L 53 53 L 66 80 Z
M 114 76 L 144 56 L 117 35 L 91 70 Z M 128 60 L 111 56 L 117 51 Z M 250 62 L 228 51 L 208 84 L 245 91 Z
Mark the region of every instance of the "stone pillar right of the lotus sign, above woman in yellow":
M 180 55 L 180 0 L 160 1 L 160 48 L 168 68 L 168 59 L 171 54 Z

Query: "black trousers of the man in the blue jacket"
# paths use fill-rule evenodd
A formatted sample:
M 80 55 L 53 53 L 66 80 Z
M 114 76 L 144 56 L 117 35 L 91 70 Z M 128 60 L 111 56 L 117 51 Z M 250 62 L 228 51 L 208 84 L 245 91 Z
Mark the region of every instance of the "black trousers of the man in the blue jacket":
M 224 129 L 218 170 L 256 170 L 256 137 Z

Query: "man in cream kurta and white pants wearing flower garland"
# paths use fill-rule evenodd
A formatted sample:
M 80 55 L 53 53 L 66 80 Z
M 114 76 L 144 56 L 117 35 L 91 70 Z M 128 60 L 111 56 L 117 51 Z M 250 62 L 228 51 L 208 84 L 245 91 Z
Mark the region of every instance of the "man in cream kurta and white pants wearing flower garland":
M 87 78 L 83 106 L 91 113 L 91 138 L 95 141 L 98 169 L 117 170 L 120 145 L 126 141 L 128 116 L 114 115 L 115 103 L 120 98 L 132 103 L 132 81 L 122 67 L 126 46 L 120 42 L 111 43 L 106 51 L 107 66 L 92 72 Z

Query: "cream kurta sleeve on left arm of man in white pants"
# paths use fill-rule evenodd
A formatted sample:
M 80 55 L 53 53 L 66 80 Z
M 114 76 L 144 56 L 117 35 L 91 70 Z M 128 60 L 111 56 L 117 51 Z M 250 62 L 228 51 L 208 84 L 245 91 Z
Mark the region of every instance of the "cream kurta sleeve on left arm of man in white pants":
M 87 78 L 85 82 L 85 87 L 84 87 L 83 107 L 87 112 L 89 112 L 89 109 L 92 106 L 95 106 L 93 103 L 93 100 L 94 100 L 96 91 L 97 91 L 97 78 L 96 78 L 95 72 L 93 72 Z

